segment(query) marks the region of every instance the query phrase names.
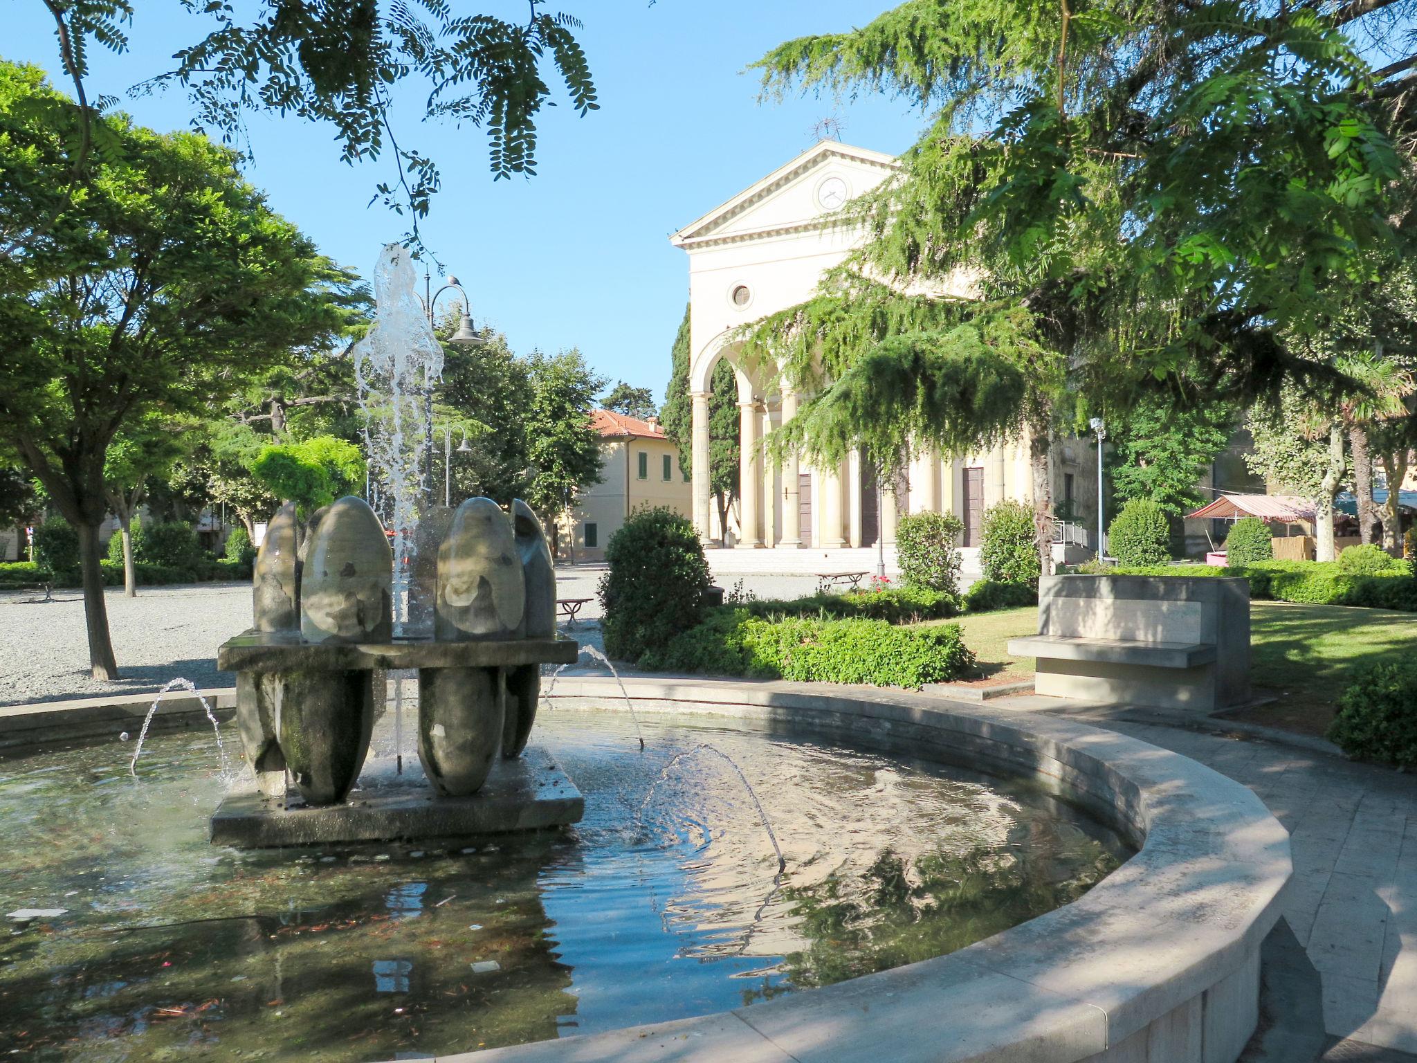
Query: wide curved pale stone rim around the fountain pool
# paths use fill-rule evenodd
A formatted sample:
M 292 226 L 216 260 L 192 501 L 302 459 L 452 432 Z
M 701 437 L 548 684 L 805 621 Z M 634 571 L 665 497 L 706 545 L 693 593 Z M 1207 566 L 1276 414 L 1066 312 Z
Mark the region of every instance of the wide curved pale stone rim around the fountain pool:
M 927 693 L 659 676 L 623 685 L 646 714 L 730 716 L 1030 777 L 1138 852 L 1071 904 L 942 957 L 727 1012 L 436 1060 L 1233 1063 L 1254 1032 L 1260 947 L 1292 862 L 1288 833 L 1241 784 L 1136 738 Z M 619 693 L 608 676 L 563 676 L 547 692 L 623 712 Z M 27 709 L 0 709 L 0 737 L 18 737 L 6 736 L 18 716 L 40 723 L 40 706 Z M 43 709 L 60 724 L 65 703 Z M 58 737 L 21 730 L 35 744 Z

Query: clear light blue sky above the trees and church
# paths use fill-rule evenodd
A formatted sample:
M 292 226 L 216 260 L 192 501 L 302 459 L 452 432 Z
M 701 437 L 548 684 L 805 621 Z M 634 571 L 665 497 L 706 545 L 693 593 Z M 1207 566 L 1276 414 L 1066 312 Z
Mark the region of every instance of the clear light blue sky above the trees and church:
M 177 0 L 136 7 L 132 50 L 92 54 L 89 96 L 120 96 L 143 125 L 184 128 L 190 105 L 180 89 L 139 98 L 126 89 L 167 69 L 203 23 Z M 524 10 L 503 0 L 456 7 L 509 18 Z M 840 120 L 842 140 L 893 153 L 924 120 L 877 96 L 758 103 L 758 78 L 744 72 L 781 41 L 860 26 L 888 0 L 561 0 L 558 7 L 585 21 L 580 40 L 601 109 L 587 118 L 568 106 L 544 112 L 537 176 L 493 181 L 482 130 L 421 126 L 419 101 L 411 98 L 401 140 L 432 154 L 444 173 L 424 238 L 468 288 L 478 323 L 504 332 L 514 350 L 578 346 L 604 376 L 652 387 L 660 398 L 689 285 L 686 258 L 669 234 L 811 147 L 822 118 Z M 7 0 L 0 10 L 3 55 L 57 75 L 52 23 L 40 0 Z M 366 206 L 374 184 L 391 176 L 388 164 L 340 163 L 330 130 L 258 118 L 251 142 L 249 179 L 336 261 L 367 275 L 378 248 L 407 230 L 400 217 Z

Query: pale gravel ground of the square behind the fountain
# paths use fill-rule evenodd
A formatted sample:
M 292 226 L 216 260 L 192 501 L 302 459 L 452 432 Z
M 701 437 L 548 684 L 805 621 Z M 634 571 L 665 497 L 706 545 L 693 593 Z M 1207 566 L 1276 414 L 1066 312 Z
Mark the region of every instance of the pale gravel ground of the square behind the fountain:
M 563 629 L 597 649 L 604 646 L 595 587 L 604 573 L 605 566 L 598 564 L 557 570 L 557 597 L 591 600 L 575 626 Z M 811 575 L 743 578 L 744 590 L 760 598 L 816 590 Z M 718 583 L 733 590 L 737 580 L 726 575 Z M 251 626 L 251 587 L 244 583 L 153 587 L 136 598 L 109 588 L 108 622 L 122 679 L 103 683 L 88 675 L 82 597 L 72 590 L 58 591 L 50 602 L 43 597 L 37 591 L 0 592 L 0 706 L 147 693 L 177 676 L 201 689 L 231 686 L 232 676 L 217 670 L 217 646 Z

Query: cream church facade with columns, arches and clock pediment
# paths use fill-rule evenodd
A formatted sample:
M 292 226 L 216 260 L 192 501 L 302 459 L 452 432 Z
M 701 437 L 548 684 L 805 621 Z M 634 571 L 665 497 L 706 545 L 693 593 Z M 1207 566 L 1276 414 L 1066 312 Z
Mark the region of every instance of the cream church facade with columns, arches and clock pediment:
M 743 468 L 730 523 L 741 550 L 832 551 L 874 546 L 879 539 L 888 549 L 900 514 L 925 510 L 956 514 L 965 527 L 961 546 L 968 549 L 979 544 L 989 506 L 1002 499 L 1032 505 L 1024 439 L 982 454 L 914 454 L 894 492 L 877 490 L 871 466 L 859 454 L 836 468 L 812 468 L 795 458 L 774 468 L 761 454 L 764 435 L 791 420 L 802 397 L 778 387 L 775 367 L 751 364 L 734 333 L 812 296 L 822 274 L 862 240 L 828 215 L 896 167 L 893 156 L 823 140 L 670 237 L 689 257 L 691 514 L 706 544 L 723 532 L 707 475 L 708 394 L 723 359 L 738 384 Z M 1076 522 L 1068 534 L 1085 541 L 1091 541 L 1087 522 L 1097 514 L 1095 461 L 1088 441 L 1054 444 L 1054 512 Z

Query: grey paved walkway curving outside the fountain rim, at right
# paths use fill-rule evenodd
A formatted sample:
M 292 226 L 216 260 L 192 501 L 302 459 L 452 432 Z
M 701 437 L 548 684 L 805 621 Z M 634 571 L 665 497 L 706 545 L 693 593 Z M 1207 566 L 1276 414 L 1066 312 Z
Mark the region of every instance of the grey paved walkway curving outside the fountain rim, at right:
M 1268 741 L 1139 723 L 1121 707 L 1040 696 L 989 704 L 1078 716 L 1182 753 L 1250 787 L 1289 831 L 1294 879 L 1284 916 L 1297 948 L 1285 952 L 1281 923 L 1281 940 L 1267 943 L 1271 1045 L 1257 1036 L 1248 1059 L 1316 1059 L 1299 1054 L 1306 1030 L 1315 1039 L 1326 1035 L 1318 1046 L 1325 1060 L 1406 1059 L 1370 1046 L 1417 1053 L 1417 777 Z

